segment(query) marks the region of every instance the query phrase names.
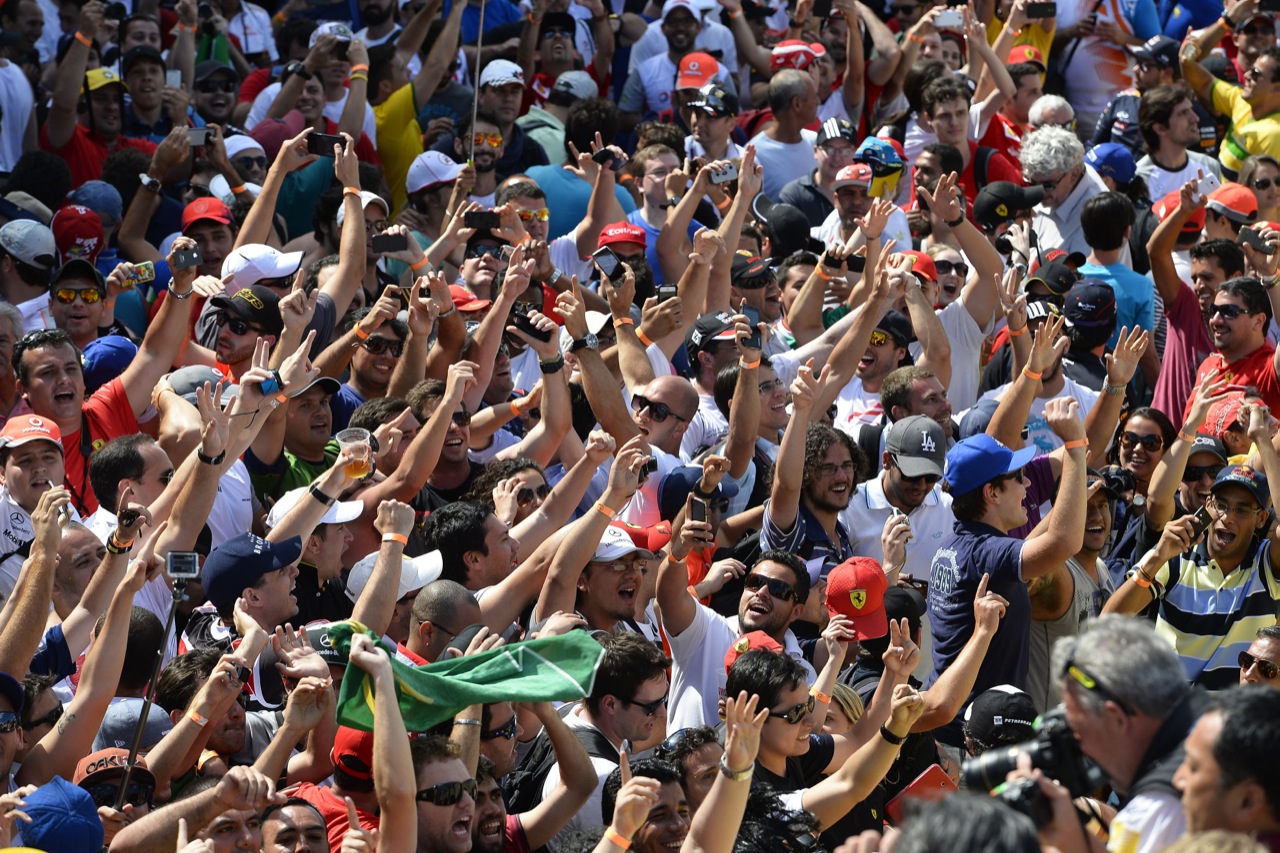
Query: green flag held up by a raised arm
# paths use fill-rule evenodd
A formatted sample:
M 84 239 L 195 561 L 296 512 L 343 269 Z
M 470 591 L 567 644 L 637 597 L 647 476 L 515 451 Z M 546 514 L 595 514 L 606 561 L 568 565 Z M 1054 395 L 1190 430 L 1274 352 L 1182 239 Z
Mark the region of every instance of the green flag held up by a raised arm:
M 570 631 L 417 667 L 397 660 L 394 648 L 356 620 L 330 625 L 329 640 L 347 657 L 356 633 L 369 635 L 390 656 L 396 697 L 410 731 L 425 731 L 471 704 L 586 698 L 604 657 L 590 634 Z M 358 666 L 348 666 L 342 680 L 338 722 L 374 730 L 374 688 Z

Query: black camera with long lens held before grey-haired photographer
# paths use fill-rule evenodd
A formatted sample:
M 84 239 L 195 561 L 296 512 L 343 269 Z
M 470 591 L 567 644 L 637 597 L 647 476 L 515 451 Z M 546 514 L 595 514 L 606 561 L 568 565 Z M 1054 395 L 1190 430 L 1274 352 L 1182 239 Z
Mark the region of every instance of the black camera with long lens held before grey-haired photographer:
M 1066 725 L 1066 712 L 1057 706 L 1036 720 L 1036 736 L 1024 743 L 984 752 L 964 762 L 961 777 L 968 788 L 995 792 L 993 795 L 1010 808 L 1030 817 L 1037 827 L 1052 820 L 1052 808 L 1032 779 L 1006 784 L 1005 777 L 1018 768 L 1018 757 L 1025 753 L 1032 767 L 1066 788 L 1071 797 L 1085 797 L 1106 784 L 1106 774 L 1092 758 L 1080 752 L 1080 744 Z

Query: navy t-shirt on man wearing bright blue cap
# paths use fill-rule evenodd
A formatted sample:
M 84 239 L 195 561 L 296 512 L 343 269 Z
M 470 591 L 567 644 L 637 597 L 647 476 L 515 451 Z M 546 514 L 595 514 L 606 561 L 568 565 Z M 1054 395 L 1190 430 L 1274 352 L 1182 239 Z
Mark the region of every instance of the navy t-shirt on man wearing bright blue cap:
M 973 602 L 982 575 L 989 574 L 987 589 L 1009 601 L 1009 607 L 978 669 L 978 680 L 969 697 L 972 699 L 998 684 L 1027 689 L 1032 601 L 1023 583 L 1023 544 L 1021 539 L 1007 537 L 988 524 L 956 521 L 955 533 L 938 548 L 929 567 L 929 625 L 933 629 L 931 684 L 951 666 L 973 637 Z M 956 719 L 963 719 L 963 715 Z M 938 740 L 961 745 L 964 739 L 959 722 L 940 729 Z

